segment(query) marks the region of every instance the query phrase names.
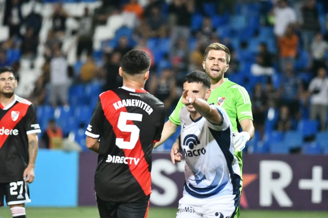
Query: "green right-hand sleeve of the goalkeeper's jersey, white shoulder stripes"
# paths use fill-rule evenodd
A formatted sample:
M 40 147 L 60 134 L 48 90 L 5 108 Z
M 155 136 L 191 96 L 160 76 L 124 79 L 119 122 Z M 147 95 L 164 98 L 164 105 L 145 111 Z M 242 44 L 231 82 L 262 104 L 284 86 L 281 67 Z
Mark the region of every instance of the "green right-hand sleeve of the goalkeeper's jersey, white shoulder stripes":
M 252 103 L 246 89 L 242 86 L 238 86 L 235 98 L 238 122 L 245 119 L 253 120 Z

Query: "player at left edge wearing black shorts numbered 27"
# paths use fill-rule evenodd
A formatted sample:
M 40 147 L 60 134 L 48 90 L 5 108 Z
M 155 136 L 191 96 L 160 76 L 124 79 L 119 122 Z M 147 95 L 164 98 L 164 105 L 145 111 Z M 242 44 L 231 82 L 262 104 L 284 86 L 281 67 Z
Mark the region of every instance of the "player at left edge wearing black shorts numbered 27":
M 41 132 L 34 106 L 15 95 L 15 71 L 0 68 L 0 206 L 6 196 L 12 217 L 26 218 L 25 203 L 31 202 L 28 184 L 34 180 Z

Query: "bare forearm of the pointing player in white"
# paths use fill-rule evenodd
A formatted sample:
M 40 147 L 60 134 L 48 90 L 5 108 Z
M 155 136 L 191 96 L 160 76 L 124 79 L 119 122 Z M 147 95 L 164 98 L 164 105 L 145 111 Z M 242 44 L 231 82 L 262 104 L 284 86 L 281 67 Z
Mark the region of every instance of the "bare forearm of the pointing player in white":
M 222 123 L 222 118 L 218 115 L 217 109 L 211 107 L 207 101 L 201 98 L 196 98 L 193 107 L 198 113 L 200 113 L 200 115 L 205 117 L 211 123 Z

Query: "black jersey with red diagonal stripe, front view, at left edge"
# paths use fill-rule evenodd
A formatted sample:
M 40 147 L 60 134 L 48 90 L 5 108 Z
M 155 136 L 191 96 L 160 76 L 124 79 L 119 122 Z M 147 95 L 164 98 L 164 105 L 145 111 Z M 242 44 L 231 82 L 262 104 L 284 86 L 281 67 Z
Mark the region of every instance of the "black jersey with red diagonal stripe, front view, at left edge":
M 28 134 L 41 132 L 32 103 L 15 95 L 8 106 L 0 104 L 0 183 L 23 179 L 29 163 Z

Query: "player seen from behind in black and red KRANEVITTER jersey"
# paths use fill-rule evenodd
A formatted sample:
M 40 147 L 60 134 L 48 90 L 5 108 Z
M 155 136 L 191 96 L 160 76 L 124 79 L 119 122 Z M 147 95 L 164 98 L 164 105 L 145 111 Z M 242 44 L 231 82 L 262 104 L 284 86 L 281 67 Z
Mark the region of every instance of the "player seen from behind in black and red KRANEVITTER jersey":
M 99 95 L 86 130 L 99 153 L 95 191 L 101 218 L 147 217 L 152 150 L 165 121 L 163 102 L 144 90 L 151 59 L 132 50 L 122 58 L 123 86 Z

